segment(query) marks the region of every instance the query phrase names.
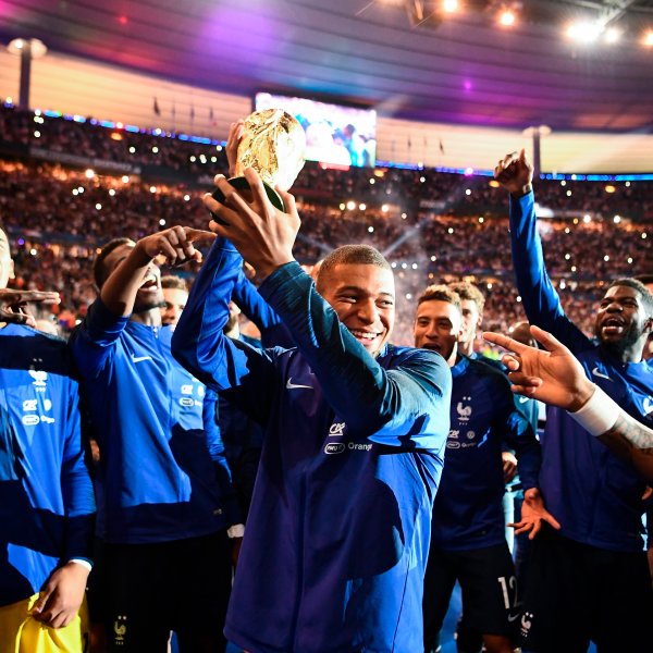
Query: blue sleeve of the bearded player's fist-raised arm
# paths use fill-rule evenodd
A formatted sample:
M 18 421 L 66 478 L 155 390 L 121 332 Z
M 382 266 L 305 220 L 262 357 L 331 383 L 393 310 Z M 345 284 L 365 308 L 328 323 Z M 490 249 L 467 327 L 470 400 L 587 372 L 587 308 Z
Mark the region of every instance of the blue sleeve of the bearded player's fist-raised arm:
M 510 244 L 517 289 L 529 322 L 550 331 L 572 350 L 587 348 L 590 340 L 565 315 L 546 272 L 532 192 L 519 199 L 510 196 Z

